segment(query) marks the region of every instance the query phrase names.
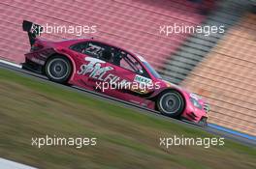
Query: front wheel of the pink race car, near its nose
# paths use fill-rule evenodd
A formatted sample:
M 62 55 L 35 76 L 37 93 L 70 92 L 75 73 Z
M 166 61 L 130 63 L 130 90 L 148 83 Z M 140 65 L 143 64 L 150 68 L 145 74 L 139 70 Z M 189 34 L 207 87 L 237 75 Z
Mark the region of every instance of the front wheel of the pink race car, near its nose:
M 172 118 L 179 118 L 185 107 L 185 101 L 177 91 L 162 93 L 156 102 L 161 114 Z

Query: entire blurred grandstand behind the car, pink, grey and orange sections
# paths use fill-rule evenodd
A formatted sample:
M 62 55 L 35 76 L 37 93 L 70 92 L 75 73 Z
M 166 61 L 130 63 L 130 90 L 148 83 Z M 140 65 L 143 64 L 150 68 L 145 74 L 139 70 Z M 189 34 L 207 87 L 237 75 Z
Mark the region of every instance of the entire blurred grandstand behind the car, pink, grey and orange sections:
M 29 49 L 23 19 L 51 25 L 96 25 L 86 34 L 132 49 L 164 78 L 204 96 L 209 122 L 256 135 L 256 16 L 246 0 L 3 0 L 0 58 L 15 63 Z M 160 34 L 164 25 L 224 26 L 225 33 Z M 49 40 L 78 38 L 45 34 Z

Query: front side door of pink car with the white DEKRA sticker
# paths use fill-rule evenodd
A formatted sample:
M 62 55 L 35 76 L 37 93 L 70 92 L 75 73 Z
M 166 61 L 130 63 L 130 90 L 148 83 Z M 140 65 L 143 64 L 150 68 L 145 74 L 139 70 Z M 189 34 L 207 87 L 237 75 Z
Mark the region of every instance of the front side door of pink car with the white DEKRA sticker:
M 116 49 L 118 50 L 118 49 Z M 135 103 L 142 103 L 144 97 L 150 93 L 142 84 L 150 83 L 147 72 L 134 56 L 127 51 L 118 50 L 113 54 L 111 62 L 106 66 L 112 67 L 111 78 L 108 79 L 109 89 L 105 93 L 114 98 L 124 99 Z

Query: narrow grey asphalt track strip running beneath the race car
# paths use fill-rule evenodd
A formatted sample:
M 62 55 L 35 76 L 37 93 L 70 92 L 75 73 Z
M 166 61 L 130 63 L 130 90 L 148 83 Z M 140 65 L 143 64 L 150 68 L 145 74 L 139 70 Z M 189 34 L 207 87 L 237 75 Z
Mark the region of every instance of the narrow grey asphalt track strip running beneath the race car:
M 196 124 L 193 124 L 193 123 L 190 123 L 188 121 L 179 121 L 179 120 L 176 120 L 176 119 L 172 119 L 172 118 L 163 116 L 163 115 L 159 114 L 157 111 L 154 111 L 154 110 L 151 110 L 151 109 L 148 109 L 148 108 L 145 108 L 145 107 L 141 107 L 141 106 L 139 106 L 137 104 L 134 104 L 134 103 L 131 103 L 131 102 L 123 101 L 123 100 L 120 100 L 120 99 L 114 99 L 114 98 L 111 98 L 111 97 L 108 97 L 108 96 L 105 96 L 105 95 L 102 95 L 102 94 L 99 94 L 99 93 L 96 93 L 96 92 L 81 89 L 81 88 L 76 87 L 76 86 L 65 86 L 65 85 L 62 85 L 62 84 L 54 83 L 54 82 L 49 81 L 46 76 L 35 73 L 35 72 L 32 72 L 32 71 L 29 71 L 29 70 L 22 70 L 21 67 L 20 66 L 17 67 L 16 64 L 11 64 L 11 63 L 5 64 L 5 63 L 0 62 L 0 69 L 12 70 L 12 71 L 15 71 L 17 74 L 20 74 L 20 75 L 26 76 L 26 77 L 30 77 L 34 80 L 39 81 L 40 83 L 53 84 L 57 87 L 65 89 L 65 90 L 81 93 L 81 94 L 83 94 L 87 97 L 110 101 L 113 104 L 118 104 L 120 106 L 127 107 L 127 108 L 130 108 L 132 110 L 136 110 L 139 113 L 147 114 L 147 115 L 150 115 L 150 116 L 155 116 L 157 118 L 160 118 L 160 119 L 163 119 L 163 120 L 166 120 L 166 121 L 170 121 L 170 123 L 181 124 L 181 125 L 184 125 L 186 127 L 200 128 L 202 130 L 207 131 L 208 133 L 224 137 L 225 139 L 233 140 L 233 141 L 239 142 L 239 143 L 247 145 L 247 146 L 256 147 L 255 139 L 248 139 L 248 138 L 242 137 L 240 135 L 235 135 L 235 134 L 232 134 L 230 132 L 227 132 L 227 131 L 224 131 L 224 130 L 221 130 L 221 129 L 217 129 L 217 128 L 214 128 L 214 127 L 200 127 L 200 126 L 198 126 Z

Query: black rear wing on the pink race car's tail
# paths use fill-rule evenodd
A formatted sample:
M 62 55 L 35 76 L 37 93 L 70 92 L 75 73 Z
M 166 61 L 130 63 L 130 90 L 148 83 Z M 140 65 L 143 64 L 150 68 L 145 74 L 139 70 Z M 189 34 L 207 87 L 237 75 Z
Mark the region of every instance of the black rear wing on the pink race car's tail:
M 27 32 L 30 45 L 33 45 L 36 41 L 37 36 L 40 36 L 43 32 L 43 27 L 41 25 L 35 24 L 27 20 L 23 20 L 22 28 L 23 31 Z

